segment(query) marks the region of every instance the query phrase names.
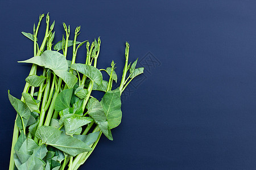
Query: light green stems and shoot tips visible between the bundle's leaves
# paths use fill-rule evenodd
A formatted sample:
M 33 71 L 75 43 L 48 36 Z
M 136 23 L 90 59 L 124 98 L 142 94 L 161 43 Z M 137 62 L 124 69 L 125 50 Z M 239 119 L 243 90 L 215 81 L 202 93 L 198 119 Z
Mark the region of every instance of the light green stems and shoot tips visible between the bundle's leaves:
M 49 15 L 46 15 L 46 33 L 44 36 L 44 39 L 42 41 L 42 44 L 39 47 L 39 44 L 37 42 L 37 36 L 38 36 L 38 30 L 39 30 L 39 26 L 40 23 L 42 21 L 44 17 L 43 15 L 39 16 L 39 22 L 37 24 L 37 26 L 35 27 L 34 24 L 34 56 L 40 56 L 44 50 L 52 50 L 52 41 L 53 38 L 55 36 L 55 32 L 53 32 L 53 27 L 55 22 L 52 23 L 51 26 L 49 26 Z M 68 50 L 68 40 L 69 40 L 69 35 L 70 35 L 70 27 L 63 23 L 63 27 L 65 30 L 65 38 L 63 37 L 63 41 L 62 41 L 62 50 L 63 50 L 63 55 L 65 57 L 67 57 L 67 50 Z M 75 37 L 73 40 L 73 53 L 72 53 L 72 61 L 71 63 L 75 63 L 76 61 L 76 55 L 77 55 L 77 49 L 79 47 L 77 47 L 77 36 L 79 35 L 80 31 L 80 27 L 77 27 L 75 30 Z M 85 41 L 84 41 L 85 42 Z M 82 42 L 82 43 L 84 43 Z M 95 43 L 94 43 L 95 42 Z M 93 65 L 94 67 L 97 66 L 97 59 L 100 53 L 100 45 L 101 45 L 101 40 L 100 38 L 98 39 L 98 41 L 93 41 L 92 44 L 90 45 L 89 42 L 86 42 L 86 60 L 85 60 L 85 64 L 86 65 Z M 93 50 L 96 49 L 97 50 Z M 122 94 L 123 90 L 125 90 L 126 86 L 130 83 L 130 81 L 127 81 L 129 79 L 129 77 L 126 79 L 126 73 L 127 70 L 129 70 L 129 66 L 128 66 L 128 57 L 129 57 L 129 44 L 126 44 L 126 52 L 125 52 L 125 57 L 126 57 L 126 61 L 125 61 L 125 67 L 123 69 L 123 75 L 122 75 L 122 79 L 121 79 L 121 84 L 119 87 L 119 90 Z M 37 65 L 33 64 L 30 70 L 29 75 L 36 75 L 37 73 Z M 109 78 L 109 83 L 108 83 L 108 89 L 107 91 L 112 90 L 112 83 L 113 83 L 113 71 L 114 71 L 115 67 L 114 67 L 114 63 L 112 63 L 112 71 L 110 74 L 110 78 Z M 104 69 L 101 69 L 104 70 Z M 105 70 L 106 71 L 106 70 Z M 70 73 L 75 73 L 75 70 L 70 69 Z M 67 84 L 63 83 L 63 80 L 61 78 L 59 78 L 57 75 L 55 75 L 55 73 L 53 73 L 53 71 L 49 71 L 47 69 L 43 69 L 43 76 L 47 76 L 48 78 L 45 80 L 46 82 L 42 83 L 42 85 L 40 85 L 40 87 L 38 88 L 37 91 L 37 100 L 39 100 L 38 103 L 38 107 L 40 110 L 40 114 L 39 114 L 39 122 L 38 122 L 38 126 L 37 128 L 39 128 L 40 126 L 49 126 L 51 123 L 51 119 L 52 118 L 57 118 L 59 116 L 59 113 L 55 111 L 54 107 L 55 107 L 55 101 L 56 101 L 56 97 L 57 95 L 62 91 L 68 88 Z M 51 77 L 52 76 L 52 77 Z M 79 73 L 77 73 L 77 76 L 79 76 L 79 86 L 84 85 L 85 81 L 87 79 L 87 77 L 85 75 L 82 76 L 82 78 L 80 78 Z M 88 103 L 88 100 L 90 98 L 90 94 L 92 92 L 93 89 L 93 81 L 90 80 L 89 86 L 88 86 L 88 92 L 89 94 L 85 97 L 85 99 L 83 99 L 83 103 L 82 103 L 82 111 L 84 113 L 86 104 Z M 35 93 L 35 87 L 34 86 L 30 86 L 29 83 L 26 83 L 23 92 L 25 93 L 30 93 L 31 96 L 34 96 Z M 120 95 L 121 95 L 120 94 Z M 21 98 L 21 101 L 24 101 L 23 97 Z M 86 113 L 84 114 L 84 116 L 86 115 Z M 9 166 L 9 170 L 10 169 L 14 169 L 15 164 L 14 164 L 14 146 L 15 143 L 18 140 L 19 134 L 23 133 L 27 136 L 30 137 L 32 139 L 34 139 L 34 141 L 36 143 L 38 143 L 39 145 L 42 145 L 42 141 L 40 141 L 38 138 L 36 137 L 32 137 L 32 135 L 30 134 L 30 132 L 28 130 L 26 130 L 26 127 L 24 126 L 23 120 L 22 120 L 22 124 L 23 124 L 23 130 L 20 130 L 17 126 L 17 118 L 18 118 L 18 114 L 16 116 L 15 119 L 15 124 L 14 124 L 14 133 L 13 133 L 13 143 L 11 146 L 11 157 L 10 157 L 10 166 Z M 95 124 L 95 122 L 91 122 L 90 124 L 87 125 L 87 127 L 85 128 L 85 130 L 82 132 L 83 135 L 87 134 L 88 131 L 90 130 L 90 128 L 94 127 L 93 124 Z M 27 131 L 27 133 L 26 133 Z M 96 128 L 94 128 L 93 132 L 96 131 L 100 131 L 100 128 L 98 126 L 96 126 Z M 70 156 L 65 154 L 65 159 L 64 162 L 62 163 L 60 169 L 64 169 L 66 167 L 66 165 L 68 164 L 68 169 L 78 169 L 80 167 L 81 164 L 83 164 L 88 157 L 90 156 L 90 154 L 92 154 L 94 148 L 96 147 L 98 141 L 100 140 L 102 132 L 100 131 L 100 134 L 98 135 L 97 141 L 94 142 L 90 147 L 92 147 L 92 151 L 89 152 L 83 152 L 79 155 L 76 156 Z

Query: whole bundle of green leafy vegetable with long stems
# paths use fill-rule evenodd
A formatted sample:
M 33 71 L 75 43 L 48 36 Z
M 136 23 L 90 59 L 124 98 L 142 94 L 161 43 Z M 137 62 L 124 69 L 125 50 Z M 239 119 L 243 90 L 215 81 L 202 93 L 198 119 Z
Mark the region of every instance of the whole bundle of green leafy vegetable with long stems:
M 20 61 L 32 63 L 21 100 L 8 91 L 18 113 L 9 169 L 78 169 L 92 154 L 102 133 L 113 140 L 111 129 L 121 123 L 122 117 L 120 96 L 131 80 L 143 73 L 143 67 L 135 69 L 137 60 L 128 65 L 126 42 L 121 83 L 113 90 L 113 80 L 117 82 L 114 61 L 106 69 L 96 67 L 100 38 L 91 44 L 76 41 L 80 33 L 77 27 L 74 40 L 69 40 L 70 27 L 63 23 L 65 37 L 53 46 L 55 22 L 49 26 L 47 14 L 46 33 L 39 46 L 37 36 L 43 17 L 40 15 L 38 25 L 34 24 L 33 34 L 22 32 L 34 41 L 34 57 Z M 77 50 L 85 43 L 85 63 L 76 63 Z M 73 47 L 71 61 L 66 59 L 69 46 Z M 38 67 L 43 67 L 42 75 L 37 75 Z M 102 78 L 101 71 L 108 73 L 108 80 Z M 92 91 L 105 95 L 99 101 L 91 96 Z

